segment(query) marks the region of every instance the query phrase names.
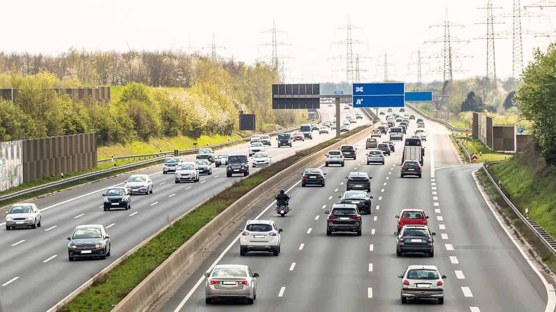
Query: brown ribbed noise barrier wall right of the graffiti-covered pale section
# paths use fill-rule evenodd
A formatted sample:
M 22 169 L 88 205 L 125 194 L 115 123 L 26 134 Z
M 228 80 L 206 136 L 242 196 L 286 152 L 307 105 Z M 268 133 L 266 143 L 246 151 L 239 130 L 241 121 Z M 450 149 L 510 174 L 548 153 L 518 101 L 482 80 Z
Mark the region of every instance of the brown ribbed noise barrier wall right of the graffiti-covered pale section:
M 23 182 L 97 167 L 95 133 L 23 140 Z

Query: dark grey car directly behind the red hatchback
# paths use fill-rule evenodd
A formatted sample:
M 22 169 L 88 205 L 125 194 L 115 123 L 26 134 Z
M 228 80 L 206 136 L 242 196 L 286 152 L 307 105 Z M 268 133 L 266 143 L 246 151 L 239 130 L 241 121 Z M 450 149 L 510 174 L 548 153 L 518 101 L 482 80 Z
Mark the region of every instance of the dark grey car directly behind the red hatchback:
M 396 238 L 396 255 L 404 253 L 423 253 L 434 256 L 434 239 L 426 225 L 405 225 Z

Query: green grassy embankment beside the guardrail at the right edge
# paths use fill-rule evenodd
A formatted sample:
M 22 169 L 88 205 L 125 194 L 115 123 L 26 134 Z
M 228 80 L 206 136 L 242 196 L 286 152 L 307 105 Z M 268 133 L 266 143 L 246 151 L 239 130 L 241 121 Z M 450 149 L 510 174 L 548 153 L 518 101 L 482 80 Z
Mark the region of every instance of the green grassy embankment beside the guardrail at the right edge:
M 516 189 L 515 184 L 509 183 L 508 175 L 507 175 L 509 172 L 505 172 L 505 174 L 504 174 L 504 169 L 503 168 L 513 167 L 514 165 L 512 163 L 514 163 L 514 162 L 513 162 L 512 159 L 510 159 L 510 160 L 508 160 L 507 162 L 504 162 L 504 163 L 490 165 L 490 168 L 493 169 L 493 171 L 495 172 L 497 177 L 502 180 L 502 184 L 504 185 L 504 187 L 506 189 L 508 189 L 510 194 L 512 194 L 511 195 L 512 203 L 514 203 L 514 205 L 516 205 L 516 207 L 518 207 L 520 210 L 522 210 L 522 207 L 529 207 L 529 218 L 537 220 L 537 222 L 539 224 L 541 224 L 541 222 L 539 222 L 540 219 L 543 219 L 543 220 L 552 219 L 552 220 L 554 220 L 555 212 L 547 212 L 547 208 L 548 208 L 547 205 L 542 205 L 541 207 L 538 207 L 537 205 L 535 205 L 535 206 L 520 205 L 520 203 L 525 204 L 524 200 L 525 200 L 525 202 L 530 203 L 532 201 L 537 202 L 537 200 L 540 199 L 540 198 L 542 198 L 542 199 L 552 198 L 552 203 L 554 203 L 554 199 L 556 199 L 555 198 L 556 195 L 554 195 L 554 194 L 556 194 L 554 192 L 554 191 L 556 191 L 556 188 L 554 188 L 554 178 L 552 178 L 552 180 L 551 180 L 551 183 L 552 183 L 553 187 L 550 188 L 550 190 L 548 190 L 548 192 L 551 192 L 551 194 L 549 194 L 549 195 L 548 194 L 538 194 L 537 195 L 537 194 L 535 194 L 534 191 L 529 192 L 528 190 L 525 190 L 525 192 L 523 192 L 523 193 L 527 193 L 527 194 L 520 193 Z M 496 170 L 495 170 L 495 168 L 496 168 Z M 500 172 L 501 174 L 499 174 L 498 172 Z M 517 170 L 515 170 L 515 168 L 514 168 L 513 172 L 514 172 L 514 174 L 518 174 L 520 177 L 513 176 L 513 177 L 511 177 L 512 180 L 519 180 L 519 178 L 525 178 L 527 180 L 526 184 L 529 187 L 531 186 L 530 182 L 532 182 L 533 179 L 531 179 L 529 177 L 530 172 L 528 172 L 527 169 L 517 169 Z M 510 175 L 513 175 L 513 174 L 510 174 Z M 543 260 L 544 264 L 547 265 L 548 268 L 550 268 L 550 270 L 552 270 L 553 272 L 556 271 L 556 257 L 554 257 L 554 255 L 544 246 L 542 241 L 540 241 L 537 238 L 537 236 L 535 236 L 535 234 L 527 227 L 527 225 L 525 225 L 523 223 L 523 221 L 515 214 L 514 210 L 508 206 L 508 204 L 500 196 L 500 193 L 498 193 L 498 190 L 494 187 L 494 185 L 492 184 L 492 181 L 486 175 L 486 173 L 484 172 L 483 169 L 479 170 L 479 172 L 477 173 L 477 177 L 479 179 L 479 182 L 483 185 L 483 188 L 486 190 L 486 193 L 489 195 L 489 197 L 493 200 L 493 202 L 498 204 L 498 207 L 500 207 L 498 212 L 502 213 L 505 224 L 507 224 L 507 225 L 512 224 L 518 230 L 519 234 L 522 235 L 525 238 L 525 240 L 527 240 L 527 242 L 531 246 L 533 246 L 533 248 L 535 249 L 535 252 L 540 256 L 540 258 Z M 553 175 L 553 177 L 554 177 L 554 175 Z M 508 181 L 508 183 L 506 183 L 506 181 Z M 542 185 L 540 183 L 537 183 L 537 181 L 535 181 L 534 184 L 535 185 Z M 513 195 L 514 192 L 512 192 L 512 191 L 516 191 L 517 195 L 514 196 Z M 534 207 L 534 209 L 532 209 L 533 207 Z M 534 213 L 532 213 L 532 212 L 534 212 Z M 537 219 L 537 217 L 541 217 L 541 218 Z M 550 220 L 550 222 L 548 224 L 546 224 L 545 222 L 543 222 L 544 224 L 541 224 L 541 226 L 547 232 L 549 232 L 549 230 L 547 229 L 547 226 L 551 228 L 552 232 L 549 232 L 550 235 L 554 234 L 554 223 L 552 222 L 552 220 Z M 529 254 L 532 254 L 530 250 L 529 250 Z

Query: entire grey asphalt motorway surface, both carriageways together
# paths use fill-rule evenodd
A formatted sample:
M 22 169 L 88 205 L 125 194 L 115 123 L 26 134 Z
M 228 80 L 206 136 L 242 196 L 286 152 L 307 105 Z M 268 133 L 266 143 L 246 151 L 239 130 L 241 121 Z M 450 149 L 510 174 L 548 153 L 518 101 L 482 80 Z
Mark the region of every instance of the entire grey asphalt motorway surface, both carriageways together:
M 322 109 L 321 114 L 323 120 L 330 120 L 332 109 Z M 347 161 L 344 168 L 323 167 L 327 172 L 325 188 L 290 185 L 295 210 L 277 220 L 284 229 L 280 256 L 240 258 L 233 234 L 192 278 L 175 286 L 175 293 L 160 310 L 484 312 L 545 311 L 547 304 L 553 307 L 553 294 L 547 295 L 542 279 L 500 227 L 476 188 L 471 172 L 477 167 L 459 165 L 443 127 L 428 123 L 427 130 L 423 178 L 399 178 L 402 144 L 396 144 L 396 153 L 387 157 L 384 166 L 367 166 L 360 142 L 358 160 Z M 293 149 L 267 150 L 276 161 L 330 137 L 332 134 L 315 134 L 312 142 L 297 143 Z M 246 149 L 243 144 L 219 152 Z M 375 212 L 364 216 L 363 236 L 325 236 L 324 210 L 345 190 L 344 177 L 352 170 L 364 170 L 373 176 Z M 161 175 L 160 171 L 160 167 L 141 170 L 152 175 L 155 192 L 134 196 L 133 208 L 127 212 L 103 212 L 99 208 L 102 190 L 121 185 L 125 175 L 38 199 L 36 203 L 43 209 L 42 228 L 0 231 L 0 299 L 4 311 L 47 310 L 110 261 L 167 224 L 168 219 L 240 179 L 225 178 L 224 169 L 215 168 L 212 176 L 201 178 L 201 183 L 173 184 L 172 175 Z M 434 258 L 395 256 L 394 215 L 406 207 L 423 208 L 431 216 L 431 229 L 438 233 Z M 271 202 L 266 208 L 269 209 L 253 211 L 247 217 L 277 219 Z M 69 263 L 65 237 L 75 225 L 86 223 L 110 227 L 114 255 L 105 261 Z M 255 305 L 205 305 L 204 284 L 199 281 L 216 262 L 247 264 L 261 274 Z M 435 264 L 449 276 L 443 306 L 430 301 L 400 304 L 400 281 L 396 275 L 415 263 Z

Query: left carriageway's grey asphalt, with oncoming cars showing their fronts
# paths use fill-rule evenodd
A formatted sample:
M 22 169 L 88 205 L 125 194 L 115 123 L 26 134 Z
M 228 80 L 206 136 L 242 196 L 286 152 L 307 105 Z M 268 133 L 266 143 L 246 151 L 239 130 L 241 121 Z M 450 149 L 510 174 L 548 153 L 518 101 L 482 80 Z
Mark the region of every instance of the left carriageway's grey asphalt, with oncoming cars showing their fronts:
M 323 107 L 319 112 L 323 121 L 332 120 L 334 108 Z M 341 113 L 354 115 L 355 112 L 354 109 L 342 109 Z M 364 118 L 357 125 L 370 123 L 365 115 Z M 334 135 L 332 132 L 328 135 L 314 132 L 314 139 L 296 142 L 293 148 L 277 149 L 276 140 L 273 140 L 272 147 L 266 150 L 276 162 Z M 247 143 L 235 145 L 217 150 L 215 154 L 247 153 L 248 146 Z M 193 160 L 195 155 L 182 158 Z M 251 173 L 256 170 L 260 169 L 250 168 Z M 133 195 L 131 210 L 104 212 L 102 208 L 102 190 L 123 185 L 131 174 L 127 173 L 34 200 L 42 211 L 41 228 L 6 231 L 2 227 L 0 303 L 3 311 L 46 311 L 168 222 L 242 179 L 226 178 L 225 168 L 222 167 L 213 168 L 212 175 L 201 175 L 198 183 L 175 184 L 173 174 L 161 174 L 161 165 L 137 170 L 136 173 L 151 175 L 154 192 Z M 66 237 L 80 224 L 105 225 L 112 239 L 111 257 L 106 260 L 68 261 Z

